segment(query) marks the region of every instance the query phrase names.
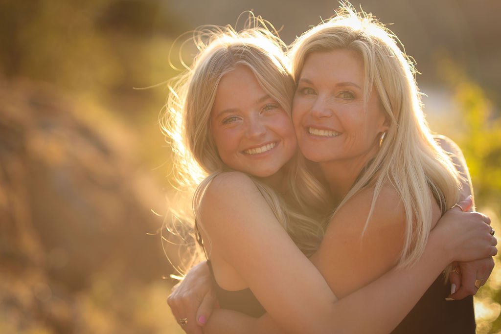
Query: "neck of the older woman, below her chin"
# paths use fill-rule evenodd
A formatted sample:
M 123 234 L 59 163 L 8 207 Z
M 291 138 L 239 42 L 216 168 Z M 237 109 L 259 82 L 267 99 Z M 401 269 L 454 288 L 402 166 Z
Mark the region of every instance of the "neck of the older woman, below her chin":
M 360 173 L 377 153 L 379 147 L 351 159 L 320 162 L 319 166 L 331 189 L 334 200 L 339 203 L 355 184 Z

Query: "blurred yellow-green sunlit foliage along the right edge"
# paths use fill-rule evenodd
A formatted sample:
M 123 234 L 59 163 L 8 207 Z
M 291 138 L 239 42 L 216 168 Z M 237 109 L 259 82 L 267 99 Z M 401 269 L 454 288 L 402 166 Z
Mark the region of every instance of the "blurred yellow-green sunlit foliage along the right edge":
M 437 68 L 452 93 L 457 110 L 435 118 L 431 128 L 454 139 L 461 147 L 471 175 L 477 210 L 492 218 L 501 231 L 501 115 L 485 90 L 468 78 L 450 57 L 442 56 Z M 494 259 L 490 279 L 475 296 L 477 333 L 501 332 L 501 255 Z

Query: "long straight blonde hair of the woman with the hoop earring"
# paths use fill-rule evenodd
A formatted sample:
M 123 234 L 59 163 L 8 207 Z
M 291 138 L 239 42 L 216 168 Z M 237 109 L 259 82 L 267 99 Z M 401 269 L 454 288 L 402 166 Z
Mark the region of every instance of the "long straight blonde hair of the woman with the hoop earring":
M 424 251 L 432 225 L 430 189 L 443 213 L 458 200 L 460 175 L 432 137 L 422 111 L 413 62 L 388 29 L 370 14 L 356 13 L 350 5 L 342 5 L 335 17 L 310 29 L 291 46 L 295 80 L 299 80 L 310 54 L 333 50 L 350 50 L 361 56 L 364 100 L 367 103 L 374 88 L 389 122 L 381 148 L 340 206 L 360 190 L 374 187 L 367 228 L 382 187 L 393 186 L 402 198 L 406 215 L 400 264 L 409 265 Z

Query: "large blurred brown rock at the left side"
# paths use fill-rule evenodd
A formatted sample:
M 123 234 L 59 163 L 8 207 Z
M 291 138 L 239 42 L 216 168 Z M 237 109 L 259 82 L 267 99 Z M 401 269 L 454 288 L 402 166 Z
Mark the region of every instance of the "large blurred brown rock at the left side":
M 170 271 L 160 237 L 147 235 L 161 224 L 147 199 L 162 196 L 111 118 L 93 125 L 90 111 L 28 80 L 0 81 L 0 101 L 0 314 L 17 316 L 15 332 L 32 320 L 73 332 L 73 295 L 94 277 L 127 286 Z

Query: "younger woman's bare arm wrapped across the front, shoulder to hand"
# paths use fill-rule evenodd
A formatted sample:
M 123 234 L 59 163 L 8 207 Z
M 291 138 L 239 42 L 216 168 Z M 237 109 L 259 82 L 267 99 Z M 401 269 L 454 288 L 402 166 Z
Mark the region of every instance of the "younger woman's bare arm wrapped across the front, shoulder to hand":
M 256 116 L 259 110 L 256 108 L 250 115 Z M 244 117 L 246 119 L 248 117 Z M 449 222 L 457 220 L 450 215 L 465 214 L 457 211 L 450 212 Z M 231 172 L 216 177 L 204 195 L 200 213 L 201 233 L 204 240 L 210 240 L 206 243 L 207 250 L 219 285 L 229 290 L 250 287 L 269 312 L 268 317 L 246 327 L 254 332 L 265 332 L 266 326 L 276 332 L 278 329 L 273 321 L 288 332 L 374 332 L 374 323 L 391 319 L 381 323 L 378 329 L 387 332 L 405 316 L 452 259 L 471 260 L 495 251 L 490 246 L 494 241 L 489 240 L 488 246 L 485 242 L 485 234 L 490 229 L 482 221 L 487 221 L 487 218 L 471 216 L 470 224 L 461 224 L 464 230 L 457 236 L 458 230 L 451 230 L 452 223 L 444 223 L 443 228 L 430 237 L 425 255 L 411 270 L 391 270 L 384 279 L 360 290 L 362 292 L 335 302 L 337 298 L 324 277 L 295 246 L 254 183 L 244 174 Z M 444 245 L 440 238 L 450 237 L 451 233 L 455 236 L 452 243 Z M 464 253 L 465 248 L 468 248 L 468 254 Z M 472 254 L 475 257 L 471 257 Z M 263 272 L 267 274 L 263 275 Z M 392 292 L 388 293 L 388 287 L 393 289 Z M 296 292 L 292 294 L 290 291 Z M 367 300 L 383 300 L 388 309 L 374 307 Z M 366 323 L 354 321 L 359 312 L 367 314 Z M 224 311 L 217 313 L 224 314 Z M 220 332 L 221 325 L 232 324 L 227 317 L 223 323 L 218 323 L 219 314 L 210 318 L 204 331 Z M 291 318 L 291 314 L 302 316 Z M 175 315 L 184 317 L 183 310 Z M 260 327 L 263 324 L 266 326 Z M 225 330 L 229 330 L 228 327 Z

